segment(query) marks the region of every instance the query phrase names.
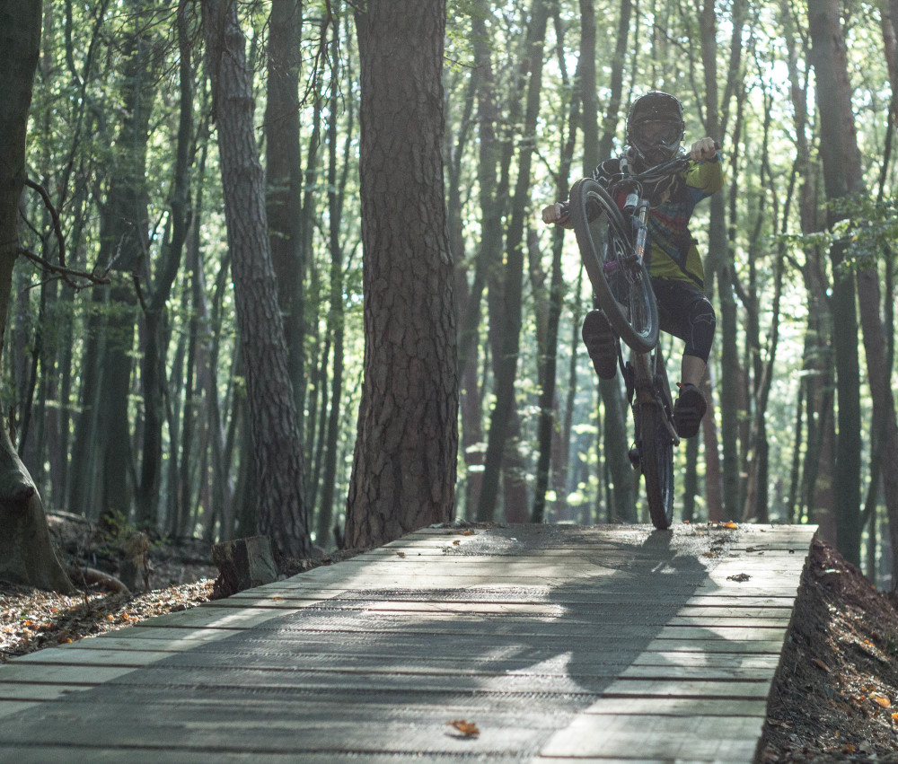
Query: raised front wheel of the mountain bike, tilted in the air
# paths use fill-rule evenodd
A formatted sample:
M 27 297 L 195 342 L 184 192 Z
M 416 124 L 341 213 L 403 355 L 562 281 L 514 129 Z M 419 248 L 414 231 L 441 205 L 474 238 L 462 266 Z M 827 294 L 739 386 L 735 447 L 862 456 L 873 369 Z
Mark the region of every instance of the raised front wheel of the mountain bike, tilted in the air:
M 629 347 L 647 353 L 658 341 L 658 306 L 645 263 L 633 252 L 629 220 L 591 178 L 570 189 L 570 214 L 599 306 Z

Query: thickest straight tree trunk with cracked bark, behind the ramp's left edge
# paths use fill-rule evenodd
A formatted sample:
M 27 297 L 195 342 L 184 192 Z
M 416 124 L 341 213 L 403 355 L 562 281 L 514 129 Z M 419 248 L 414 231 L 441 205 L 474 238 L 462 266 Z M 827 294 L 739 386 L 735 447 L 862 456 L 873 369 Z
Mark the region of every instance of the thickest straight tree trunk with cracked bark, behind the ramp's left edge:
M 452 516 L 458 359 L 441 151 L 445 0 L 370 0 L 356 23 L 365 382 L 345 543 L 367 547 Z

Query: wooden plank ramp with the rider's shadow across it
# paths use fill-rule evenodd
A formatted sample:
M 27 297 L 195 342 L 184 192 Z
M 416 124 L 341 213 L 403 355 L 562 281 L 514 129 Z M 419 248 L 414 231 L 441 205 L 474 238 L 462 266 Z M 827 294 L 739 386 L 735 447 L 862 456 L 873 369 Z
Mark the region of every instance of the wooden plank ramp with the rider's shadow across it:
M 0 761 L 751 761 L 813 532 L 425 529 L 7 663 Z

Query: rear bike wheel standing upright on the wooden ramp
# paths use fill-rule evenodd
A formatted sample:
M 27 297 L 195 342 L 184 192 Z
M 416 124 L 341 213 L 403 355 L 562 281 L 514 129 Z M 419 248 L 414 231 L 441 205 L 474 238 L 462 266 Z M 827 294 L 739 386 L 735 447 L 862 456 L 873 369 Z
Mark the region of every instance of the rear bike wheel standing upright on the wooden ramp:
M 637 404 L 639 463 L 646 479 L 648 514 L 659 530 L 674 522 L 674 440 L 657 403 Z

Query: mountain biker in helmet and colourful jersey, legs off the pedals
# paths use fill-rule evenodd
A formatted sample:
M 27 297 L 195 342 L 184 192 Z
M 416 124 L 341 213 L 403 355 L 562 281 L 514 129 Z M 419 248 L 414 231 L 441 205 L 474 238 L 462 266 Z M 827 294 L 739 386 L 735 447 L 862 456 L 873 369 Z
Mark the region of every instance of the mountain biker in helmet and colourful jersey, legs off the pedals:
M 669 93 L 652 91 L 633 101 L 627 117 L 627 147 L 619 157 L 607 159 L 593 171 L 604 188 L 629 172 L 643 172 L 683 153 L 685 122 L 682 104 Z M 682 438 L 698 434 L 708 404 L 699 390 L 714 339 L 714 308 L 705 296 L 701 256 L 689 233 L 692 210 L 723 187 L 720 154 L 712 138 L 691 145 L 691 168 L 651 185 L 643 184 L 650 209 L 647 219 L 646 258 L 658 303 L 661 329 L 682 339 L 679 396 L 674 404 L 674 426 Z M 624 195 L 615 199 L 623 206 Z M 546 206 L 547 224 L 573 227 L 568 202 Z M 595 372 L 612 379 L 617 368 L 620 339 L 601 310 L 586 314 L 582 330 L 586 351 Z

